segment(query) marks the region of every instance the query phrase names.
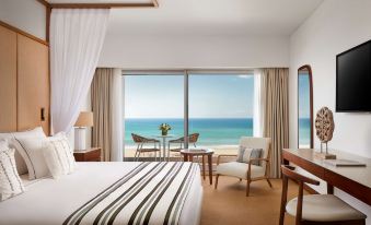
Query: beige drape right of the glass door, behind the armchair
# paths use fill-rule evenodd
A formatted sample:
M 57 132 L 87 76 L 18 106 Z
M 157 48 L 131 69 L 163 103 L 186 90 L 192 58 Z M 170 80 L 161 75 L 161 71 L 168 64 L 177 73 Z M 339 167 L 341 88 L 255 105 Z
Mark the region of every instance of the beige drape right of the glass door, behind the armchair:
M 282 149 L 289 145 L 289 69 L 263 69 L 262 87 L 265 90 L 264 137 L 271 139 L 270 176 L 281 176 Z

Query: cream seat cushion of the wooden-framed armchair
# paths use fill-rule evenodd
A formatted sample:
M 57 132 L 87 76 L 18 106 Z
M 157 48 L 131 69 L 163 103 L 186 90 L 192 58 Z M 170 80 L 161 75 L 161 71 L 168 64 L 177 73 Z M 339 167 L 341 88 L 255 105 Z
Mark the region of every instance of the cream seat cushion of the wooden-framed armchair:
M 265 169 L 262 166 L 251 165 L 251 177 L 263 177 L 265 175 Z M 217 174 L 224 176 L 232 176 L 242 179 L 247 178 L 248 164 L 239 163 L 239 162 L 230 162 L 223 163 L 217 166 Z

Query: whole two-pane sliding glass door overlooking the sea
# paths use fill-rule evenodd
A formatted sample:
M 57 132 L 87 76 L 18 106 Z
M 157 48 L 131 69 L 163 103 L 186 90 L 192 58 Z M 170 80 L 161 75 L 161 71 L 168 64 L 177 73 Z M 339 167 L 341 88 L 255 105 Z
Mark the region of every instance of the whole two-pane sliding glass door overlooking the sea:
M 139 146 L 132 134 L 161 141 L 166 154 L 187 145 L 234 154 L 241 137 L 253 135 L 253 111 L 254 75 L 248 71 L 128 72 L 125 155 L 135 156 Z M 162 123 L 171 127 L 165 139 Z

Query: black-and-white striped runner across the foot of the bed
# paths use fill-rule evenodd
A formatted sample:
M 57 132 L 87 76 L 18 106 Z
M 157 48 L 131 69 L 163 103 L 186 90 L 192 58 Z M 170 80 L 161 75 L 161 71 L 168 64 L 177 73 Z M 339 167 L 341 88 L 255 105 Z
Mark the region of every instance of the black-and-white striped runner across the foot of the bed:
M 198 167 L 192 163 L 141 163 L 74 211 L 71 224 L 178 224 Z

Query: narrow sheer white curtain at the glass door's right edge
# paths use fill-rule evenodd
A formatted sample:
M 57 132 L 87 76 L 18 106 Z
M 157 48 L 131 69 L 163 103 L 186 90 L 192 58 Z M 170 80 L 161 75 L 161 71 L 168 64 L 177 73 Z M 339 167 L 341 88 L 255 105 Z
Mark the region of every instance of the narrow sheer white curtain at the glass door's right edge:
M 263 137 L 265 126 L 266 82 L 262 69 L 254 70 L 254 137 Z

